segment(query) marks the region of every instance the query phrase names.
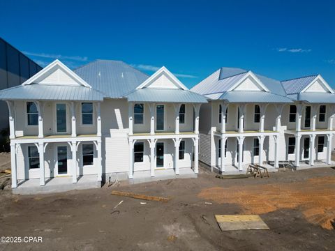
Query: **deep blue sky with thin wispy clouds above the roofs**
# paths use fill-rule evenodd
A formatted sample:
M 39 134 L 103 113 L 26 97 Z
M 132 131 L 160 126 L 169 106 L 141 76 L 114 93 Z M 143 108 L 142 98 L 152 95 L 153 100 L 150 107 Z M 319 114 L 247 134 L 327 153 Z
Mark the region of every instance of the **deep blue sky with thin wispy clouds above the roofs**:
M 0 36 L 40 66 L 166 66 L 191 87 L 221 66 L 335 87 L 335 1 L 1 1 Z

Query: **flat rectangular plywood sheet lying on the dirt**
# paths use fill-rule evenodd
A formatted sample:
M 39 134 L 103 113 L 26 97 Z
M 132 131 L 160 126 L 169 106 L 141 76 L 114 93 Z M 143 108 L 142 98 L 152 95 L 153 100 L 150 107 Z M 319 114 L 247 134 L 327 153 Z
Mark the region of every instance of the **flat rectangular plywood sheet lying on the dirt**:
M 269 230 L 259 215 L 215 215 L 221 231 Z

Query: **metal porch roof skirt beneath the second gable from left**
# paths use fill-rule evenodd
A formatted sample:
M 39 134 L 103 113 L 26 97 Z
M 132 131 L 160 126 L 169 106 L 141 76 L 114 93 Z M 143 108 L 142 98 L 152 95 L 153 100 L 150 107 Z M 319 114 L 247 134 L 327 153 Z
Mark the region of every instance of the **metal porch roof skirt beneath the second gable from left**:
M 126 98 L 128 98 L 129 102 L 207 102 L 204 96 L 181 89 L 137 89 L 129 93 Z

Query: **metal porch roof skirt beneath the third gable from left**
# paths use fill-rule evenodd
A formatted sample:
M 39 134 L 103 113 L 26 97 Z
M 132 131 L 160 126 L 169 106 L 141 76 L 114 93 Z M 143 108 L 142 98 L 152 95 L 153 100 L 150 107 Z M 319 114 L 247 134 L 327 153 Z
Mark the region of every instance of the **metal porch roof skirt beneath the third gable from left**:
M 218 99 L 227 100 L 228 102 L 292 102 L 290 98 L 267 91 L 227 91 Z

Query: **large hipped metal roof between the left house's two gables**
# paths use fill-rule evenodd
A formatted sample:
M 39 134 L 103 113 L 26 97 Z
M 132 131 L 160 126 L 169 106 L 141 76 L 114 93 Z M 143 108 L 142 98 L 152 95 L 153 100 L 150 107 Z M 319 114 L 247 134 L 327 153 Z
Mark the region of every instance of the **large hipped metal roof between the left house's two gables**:
M 122 61 L 113 60 L 96 60 L 73 71 L 109 98 L 125 96 L 149 77 Z

